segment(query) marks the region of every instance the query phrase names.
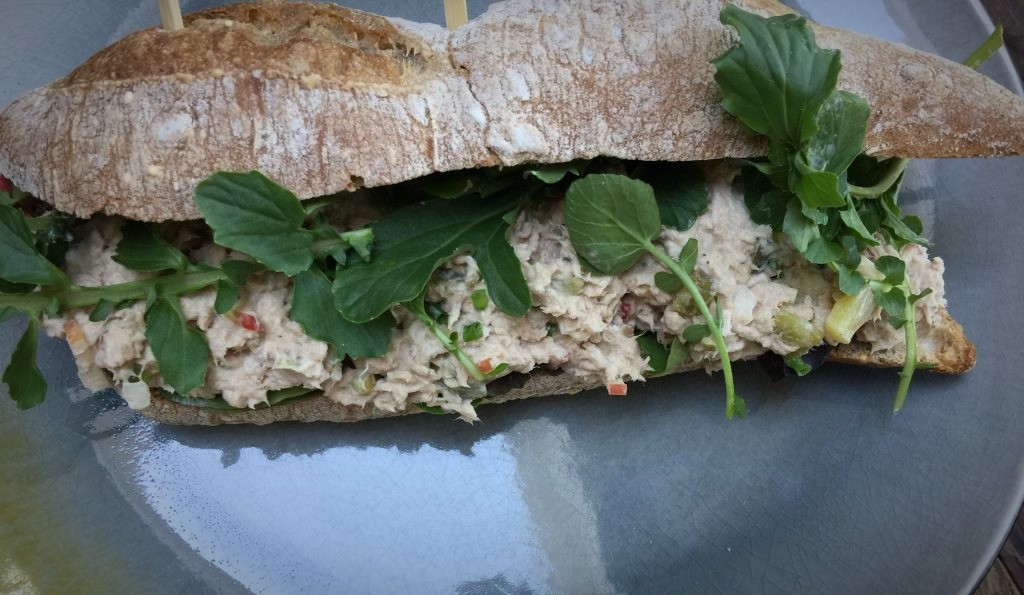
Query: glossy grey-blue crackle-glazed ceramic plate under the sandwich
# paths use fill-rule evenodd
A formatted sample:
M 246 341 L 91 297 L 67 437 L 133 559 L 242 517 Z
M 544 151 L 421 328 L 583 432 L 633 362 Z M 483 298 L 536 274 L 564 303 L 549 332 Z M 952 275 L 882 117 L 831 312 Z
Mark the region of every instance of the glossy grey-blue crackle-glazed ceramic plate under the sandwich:
M 439 0 L 397 4 L 360 7 L 442 18 Z M 952 58 L 991 26 L 966 0 L 807 4 Z M 155 6 L 4 0 L 0 104 L 156 23 Z M 985 72 L 1020 91 L 1004 55 Z M 0 398 L 0 591 L 969 592 L 1024 486 L 1022 166 L 910 170 L 905 204 L 979 363 L 921 375 L 898 416 L 893 372 L 771 384 L 742 366 L 751 416 L 732 423 L 720 379 L 696 374 L 486 409 L 474 426 L 161 427 L 89 395 L 44 341 L 47 402 Z M 20 327 L 0 328 L 0 362 Z

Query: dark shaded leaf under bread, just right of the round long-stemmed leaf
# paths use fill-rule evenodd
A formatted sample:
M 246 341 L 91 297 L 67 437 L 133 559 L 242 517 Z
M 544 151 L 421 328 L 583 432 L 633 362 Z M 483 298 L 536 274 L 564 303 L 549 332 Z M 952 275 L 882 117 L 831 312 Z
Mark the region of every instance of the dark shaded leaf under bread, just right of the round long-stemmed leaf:
M 662 224 L 685 231 L 708 210 L 708 180 L 692 163 L 645 164 L 638 177 L 654 188 Z

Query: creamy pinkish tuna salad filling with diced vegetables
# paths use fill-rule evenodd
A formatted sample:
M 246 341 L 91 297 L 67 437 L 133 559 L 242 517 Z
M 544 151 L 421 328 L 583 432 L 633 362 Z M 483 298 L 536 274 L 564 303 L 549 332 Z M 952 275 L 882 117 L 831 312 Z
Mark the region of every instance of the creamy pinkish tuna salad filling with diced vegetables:
M 617 175 L 629 173 L 633 165 L 607 160 L 587 167 Z M 429 281 L 419 301 L 385 304 L 381 312 L 357 312 L 357 304 L 342 310 L 344 314 L 356 313 L 335 328 L 393 317 L 393 327 L 386 331 L 385 350 L 372 355 L 353 353 L 358 349 L 346 347 L 344 336 L 327 340 L 326 332 L 309 331 L 312 323 L 293 312 L 300 297 L 296 285 L 300 279 L 307 283 L 311 278 L 278 271 L 270 258 L 257 249 L 230 242 L 223 242 L 230 248 L 218 245 L 215 242 L 222 229 L 210 220 L 164 224 L 154 227 L 153 233 L 158 244 L 166 243 L 185 255 L 188 270 L 227 270 L 225 263 L 230 262 L 249 263 L 253 268 L 233 289 L 230 281 L 220 278 L 216 284 L 172 296 L 171 308 L 177 306 L 182 328 L 200 333 L 209 348 L 202 382 L 186 386 L 189 389 L 183 395 L 180 373 L 167 374 L 159 347 L 155 353 L 152 298 L 126 300 L 109 308 L 105 316 L 96 314 L 98 306 L 53 312 L 43 325 L 51 336 L 68 339 L 88 388 L 113 386 L 136 409 L 150 403 L 150 387 L 179 393 L 191 403 L 222 399 L 232 408 L 265 406 L 282 391 L 291 390 L 288 394 L 315 391 L 339 403 L 381 412 L 419 409 L 454 413 L 473 421 L 477 419 L 476 406 L 487 397 L 486 383 L 511 373 L 558 371 L 604 384 L 612 394 L 625 394 L 627 383 L 663 372 L 721 369 L 722 351 L 694 295 L 659 279 L 666 267 L 652 253 L 640 255 L 617 274 L 598 272 L 593 266 L 596 262 L 581 258 L 573 244 L 577 237 L 566 221 L 566 187 L 573 178 L 583 177 L 580 168 L 570 164 L 557 171 L 548 166 L 514 172 L 511 177 L 528 180 L 536 188 L 531 186 L 532 194 L 500 214 L 504 222 L 498 217 L 487 219 L 521 267 L 528 288 L 523 311 L 508 311 L 512 308 L 505 304 L 511 298 L 502 297 L 497 287 L 495 280 L 501 275 L 496 277 L 495 262 L 504 253 L 493 244 L 488 252 L 467 232 L 469 239 L 440 257 L 439 265 L 428 271 Z M 882 298 L 872 297 L 877 293 L 841 287 L 851 270 L 868 285 L 872 280 L 882 284 L 888 273 L 874 263 L 885 256 L 905 263 L 906 284 L 918 298 L 911 308 L 918 337 L 927 338 L 941 323 L 945 306 L 943 265 L 940 259 L 929 258 L 922 244 L 893 243 L 876 232 L 863 258 L 851 263 L 850 269 L 815 264 L 794 247 L 790 236 L 764 220 L 755 221 L 758 217 L 752 216 L 744 201 L 744 184 L 736 166 L 705 166 L 702 173 L 693 175 L 700 178 L 703 188 L 694 220 L 689 225 L 664 224 L 651 242 L 680 262 L 695 247 L 688 272 L 699 290 L 700 305 L 715 312 L 729 359 L 765 352 L 800 358 L 821 345 L 850 340 L 864 342 L 872 351 L 903 345 L 904 333 L 896 328 L 902 325 L 892 324 L 891 308 L 884 307 Z M 488 175 L 482 182 L 463 182 L 449 175 L 440 180 L 443 183 L 424 180 L 420 187 L 431 188 L 433 202 L 452 205 L 469 200 L 460 197 L 471 187 L 476 196 L 473 200 L 489 205 L 499 200 L 494 197 L 508 192 L 502 186 L 508 177 Z M 502 187 L 484 189 L 486 183 Z M 451 189 L 453 184 L 455 190 Z M 657 196 L 659 186 L 652 185 Z M 346 242 L 341 252 L 314 254 L 318 259 L 314 262 L 328 263 L 321 265 L 316 274 L 334 284 L 339 307 L 343 298 L 338 296 L 338 287 L 351 277 L 346 268 L 365 268 L 367 262 L 390 258 L 396 250 L 392 248 L 396 244 L 388 243 L 375 221 L 391 212 L 395 197 L 402 192 L 400 187 L 362 190 L 321 201 L 322 208 L 307 208 L 307 222 L 315 217 L 315 225 L 329 224 Z M 423 201 L 397 203 L 395 211 L 420 208 L 415 205 Z M 664 210 L 662 218 L 664 222 Z M 315 225 L 310 228 L 316 229 Z M 357 237 L 345 236 L 368 225 L 377 232 L 380 252 L 377 246 L 367 245 L 364 254 Z M 126 240 L 129 236 L 137 240 L 138 235 L 126 229 L 125 221 L 116 217 L 94 217 L 79 226 L 63 266 L 71 283 L 91 288 L 168 274 L 133 264 L 124 256 L 128 253 Z M 492 242 L 495 237 L 489 236 Z M 273 236 L 264 240 L 267 245 L 278 241 Z M 314 242 L 314 252 L 316 246 Z M 393 266 L 398 270 L 401 265 Z M 236 268 L 243 267 L 239 264 Z M 506 293 L 514 293 L 514 285 L 510 282 L 512 289 Z M 234 298 L 229 307 L 223 305 L 227 299 L 224 294 Z M 846 303 L 858 295 L 866 298 L 857 302 L 855 313 L 850 313 Z M 839 315 L 840 305 L 846 309 L 842 325 L 837 326 L 833 318 Z M 656 340 L 666 350 L 673 347 L 673 370 L 655 369 L 652 360 L 656 355 L 638 340 L 641 337 Z M 678 353 L 676 346 L 680 347 Z M 297 388 L 305 391 L 294 390 Z

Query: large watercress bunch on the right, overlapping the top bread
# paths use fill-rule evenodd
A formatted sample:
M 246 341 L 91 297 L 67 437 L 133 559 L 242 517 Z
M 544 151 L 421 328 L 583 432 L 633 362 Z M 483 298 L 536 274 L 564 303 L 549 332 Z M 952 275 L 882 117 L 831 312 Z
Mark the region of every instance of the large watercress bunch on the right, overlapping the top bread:
M 877 236 L 897 247 L 929 245 L 920 219 L 903 217 L 896 206 L 907 161 L 860 156 L 870 109 L 863 98 L 836 89 L 840 53 L 818 47 L 806 19 L 766 18 L 731 4 L 721 19 L 739 33 L 739 44 L 715 60 L 722 107 L 769 142 L 767 161 L 752 163 L 743 176 L 751 217 L 784 233 L 809 262 L 836 271 L 840 290 L 850 297 L 837 302 L 826 322 L 826 329 L 844 331 L 833 340 L 850 340 L 852 327 L 869 309 L 865 299 L 873 298 L 893 326 L 906 325 L 898 409 L 916 366 L 915 300 L 898 258 L 876 262 L 885 281 L 866 280 L 860 270 L 862 252 L 878 245 Z M 897 269 L 902 283 L 896 282 Z M 857 316 L 846 315 L 852 313 Z

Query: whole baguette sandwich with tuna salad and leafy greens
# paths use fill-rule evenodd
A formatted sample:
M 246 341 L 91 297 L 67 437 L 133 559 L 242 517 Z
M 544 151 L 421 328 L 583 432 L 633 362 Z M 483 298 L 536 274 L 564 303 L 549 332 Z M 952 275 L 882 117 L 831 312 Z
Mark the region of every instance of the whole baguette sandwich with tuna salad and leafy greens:
M 19 408 L 39 330 L 175 424 L 473 421 L 701 369 L 732 418 L 755 357 L 897 368 L 898 410 L 974 365 L 898 205 L 911 158 L 1024 154 L 1024 100 L 967 66 L 767 0 L 184 23 L 0 112 Z

